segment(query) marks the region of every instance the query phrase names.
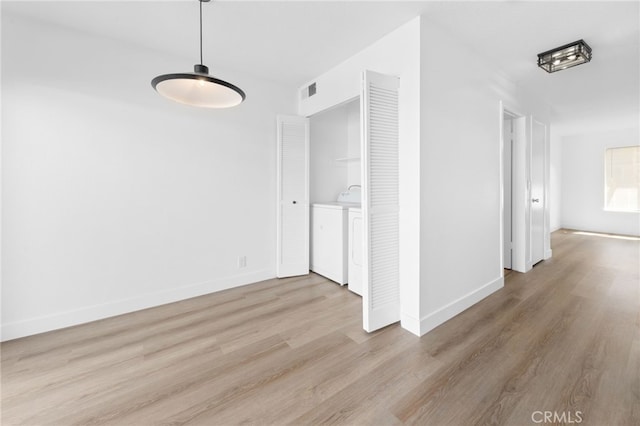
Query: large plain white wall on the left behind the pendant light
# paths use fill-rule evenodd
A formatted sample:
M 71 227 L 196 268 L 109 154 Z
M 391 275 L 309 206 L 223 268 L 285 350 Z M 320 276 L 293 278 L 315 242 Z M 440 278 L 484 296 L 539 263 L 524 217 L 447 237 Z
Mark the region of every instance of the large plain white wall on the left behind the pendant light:
M 188 58 L 6 12 L 2 43 L 3 339 L 275 276 L 293 88 L 216 67 L 247 101 L 200 110 L 150 85 Z

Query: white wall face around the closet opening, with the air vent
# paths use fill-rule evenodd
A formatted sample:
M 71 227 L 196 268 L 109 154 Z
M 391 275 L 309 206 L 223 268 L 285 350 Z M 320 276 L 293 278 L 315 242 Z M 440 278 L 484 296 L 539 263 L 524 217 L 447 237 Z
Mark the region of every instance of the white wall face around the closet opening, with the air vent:
M 301 99 L 298 107 L 300 115 L 310 116 L 358 97 L 365 70 L 400 78 L 401 324 L 414 334 L 419 334 L 420 318 L 420 20 L 407 22 L 310 81 L 317 93 Z

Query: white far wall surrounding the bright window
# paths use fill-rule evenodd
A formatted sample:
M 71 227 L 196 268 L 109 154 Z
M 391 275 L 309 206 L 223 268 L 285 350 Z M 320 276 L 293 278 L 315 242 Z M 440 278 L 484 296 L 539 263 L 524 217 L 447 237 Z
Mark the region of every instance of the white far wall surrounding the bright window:
M 638 145 L 639 127 L 562 138 L 562 227 L 640 236 L 640 213 L 604 210 L 604 153 Z

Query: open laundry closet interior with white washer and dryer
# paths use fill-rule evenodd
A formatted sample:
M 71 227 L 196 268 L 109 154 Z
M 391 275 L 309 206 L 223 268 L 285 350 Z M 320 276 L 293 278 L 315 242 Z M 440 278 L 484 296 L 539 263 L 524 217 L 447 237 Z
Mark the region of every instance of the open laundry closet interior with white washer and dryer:
M 362 295 L 360 98 L 309 117 L 309 269 Z

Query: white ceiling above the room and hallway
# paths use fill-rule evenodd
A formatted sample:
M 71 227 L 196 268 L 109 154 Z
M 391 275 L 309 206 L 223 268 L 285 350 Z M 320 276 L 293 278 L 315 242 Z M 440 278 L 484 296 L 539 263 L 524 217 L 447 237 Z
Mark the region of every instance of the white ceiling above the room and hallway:
M 301 86 L 422 15 L 484 56 L 561 120 L 637 120 L 640 2 L 214 1 L 203 5 L 204 62 Z M 3 14 L 198 59 L 198 4 L 176 1 L 2 2 Z M 547 74 L 536 54 L 584 39 L 591 63 Z M 187 66 L 188 65 L 188 66 Z

